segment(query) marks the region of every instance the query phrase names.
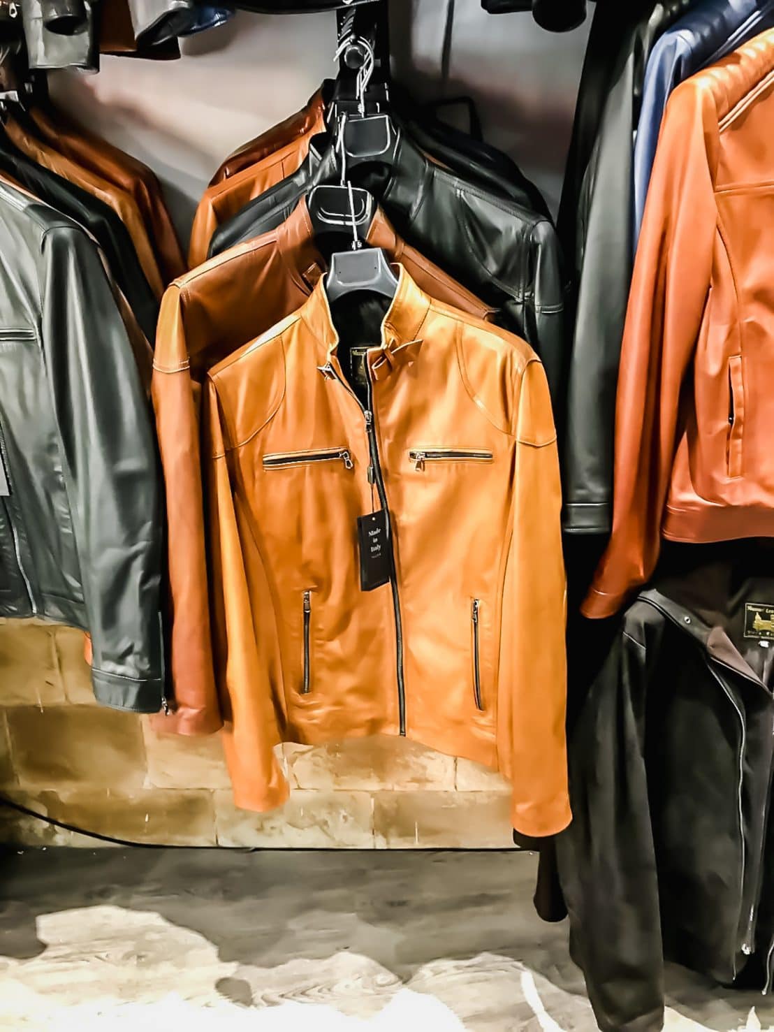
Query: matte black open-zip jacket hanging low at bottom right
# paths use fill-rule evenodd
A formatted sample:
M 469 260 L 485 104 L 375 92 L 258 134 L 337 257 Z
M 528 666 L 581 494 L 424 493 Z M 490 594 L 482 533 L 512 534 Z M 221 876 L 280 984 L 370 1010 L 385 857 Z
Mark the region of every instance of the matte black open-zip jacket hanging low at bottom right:
M 624 614 L 570 739 L 559 874 L 603 1032 L 660 1030 L 666 960 L 771 985 L 774 577 L 749 571 L 774 553 L 695 549 Z

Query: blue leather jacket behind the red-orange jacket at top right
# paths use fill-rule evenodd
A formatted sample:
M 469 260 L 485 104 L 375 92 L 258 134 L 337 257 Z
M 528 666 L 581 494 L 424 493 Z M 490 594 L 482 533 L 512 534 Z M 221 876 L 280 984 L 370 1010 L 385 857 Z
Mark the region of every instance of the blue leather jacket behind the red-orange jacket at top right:
M 702 0 L 668 29 L 648 58 L 635 139 L 637 250 L 664 111 L 672 91 L 774 24 L 772 0 Z

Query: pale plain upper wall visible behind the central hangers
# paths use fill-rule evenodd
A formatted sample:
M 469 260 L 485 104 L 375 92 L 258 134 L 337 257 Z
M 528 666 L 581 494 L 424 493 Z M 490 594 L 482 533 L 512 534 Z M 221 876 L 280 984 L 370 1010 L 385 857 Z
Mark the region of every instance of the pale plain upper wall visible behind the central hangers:
M 391 30 L 395 77 L 421 97 L 476 97 L 486 137 L 516 158 L 555 207 L 587 25 L 557 36 L 528 14 L 488 15 L 479 0 L 391 0 Z M 102 58 L 98 75 L 59 73 L 53 92 L 76 119 L 157 171 L 187 240 L 213 171 L 304 103 L 335 71 L 334 47 L 332 13 L 239 12 L 185 40 L 181 61 Z

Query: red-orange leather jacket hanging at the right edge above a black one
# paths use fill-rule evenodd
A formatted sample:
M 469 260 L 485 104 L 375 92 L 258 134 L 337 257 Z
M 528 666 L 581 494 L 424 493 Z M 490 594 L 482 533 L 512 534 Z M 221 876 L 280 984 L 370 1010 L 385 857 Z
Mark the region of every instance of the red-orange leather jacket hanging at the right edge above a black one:
M 660 537 L 774 537 L 774 30 L 672 94 L 626 313 L 613 531 L 583 612 L 611 616 Z

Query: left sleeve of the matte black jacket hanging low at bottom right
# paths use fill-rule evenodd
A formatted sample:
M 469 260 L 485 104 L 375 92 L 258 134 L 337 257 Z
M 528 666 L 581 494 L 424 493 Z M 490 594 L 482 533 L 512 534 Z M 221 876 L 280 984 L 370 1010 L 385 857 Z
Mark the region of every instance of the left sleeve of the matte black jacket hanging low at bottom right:
M 571 736 L 573 823 L 556 840 L 571 953 L 602 1032 L 664 1025 L 645 679 L 643 645 L 620 633 Z

